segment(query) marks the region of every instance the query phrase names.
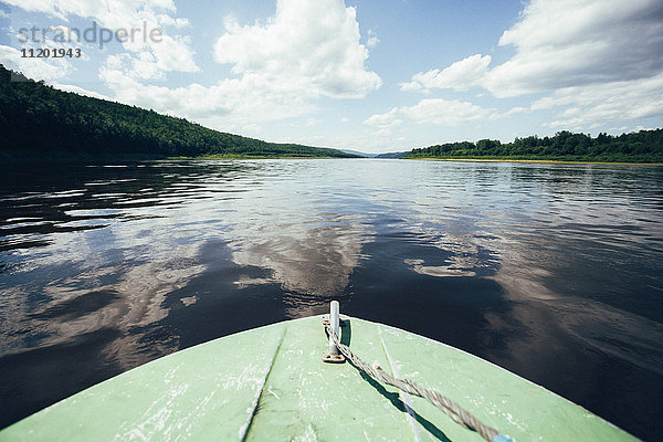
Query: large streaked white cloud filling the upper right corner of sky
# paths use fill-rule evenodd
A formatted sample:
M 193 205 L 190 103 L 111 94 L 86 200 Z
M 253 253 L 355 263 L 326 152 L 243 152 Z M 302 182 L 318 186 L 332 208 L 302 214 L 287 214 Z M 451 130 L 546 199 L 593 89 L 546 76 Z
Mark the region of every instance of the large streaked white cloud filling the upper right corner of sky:
M 418 73 L 401 90 L 481 86 L 498 98 L 547 93 L 530 107 L 499 116 L 556 109 L 546 126 L 573 130 L 662 115 L 660 0 L 532 0 L 499 45 L 515 46 L 516 53 L 493 69 L 490 55 L 475 54 L 441 71 Z M 422 114 L 419 119 L 444 122 L 446 116 Z

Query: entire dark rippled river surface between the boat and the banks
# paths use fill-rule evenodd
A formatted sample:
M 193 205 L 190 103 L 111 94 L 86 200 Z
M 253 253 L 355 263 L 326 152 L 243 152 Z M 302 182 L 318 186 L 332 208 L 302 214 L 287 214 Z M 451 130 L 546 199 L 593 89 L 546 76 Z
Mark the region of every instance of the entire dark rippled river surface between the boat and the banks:
M 663 432 L 663 168 L 0 170 L 0 427 L 178 349 L 341 312 Z M 320 332 L 322 333 L 322 332 Z

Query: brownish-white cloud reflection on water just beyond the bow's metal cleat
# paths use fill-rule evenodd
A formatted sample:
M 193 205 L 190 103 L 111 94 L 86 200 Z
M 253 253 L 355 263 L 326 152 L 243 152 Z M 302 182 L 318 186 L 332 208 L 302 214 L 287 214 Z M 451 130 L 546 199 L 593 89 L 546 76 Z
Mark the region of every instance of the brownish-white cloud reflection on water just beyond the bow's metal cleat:
M 315 219 L 316 213 L 301 213 Z M 283 225 L 288 223 L 290 225 Z M 370 232 L 358 217 L 335 215 L 324 225 L 292 223 L 286 217 L 253 220 L 232 230 L 232 259 L 238 265 L 269 269 L 291 304 L 291 316 L 320 313 L 349 283 L 358 265 L 361 244 Z M 240 282 L 239 282 L 240 283 Z M 244 283 L 245 284 L 245 283 Z

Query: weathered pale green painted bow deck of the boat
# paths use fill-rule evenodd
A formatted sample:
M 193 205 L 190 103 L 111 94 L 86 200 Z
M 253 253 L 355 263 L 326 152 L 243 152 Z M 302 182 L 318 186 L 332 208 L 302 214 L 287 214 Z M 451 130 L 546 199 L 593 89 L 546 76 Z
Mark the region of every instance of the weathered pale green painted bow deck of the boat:
M 453 347 L 355 318 L 341 340 L 516 441 L 635 440 Z M 402 398 L 349 364 L 320 362 L 327 344 L 320 317 L 220 338 L 49 407 L 0 441 L 482 441 L 421 398 Z

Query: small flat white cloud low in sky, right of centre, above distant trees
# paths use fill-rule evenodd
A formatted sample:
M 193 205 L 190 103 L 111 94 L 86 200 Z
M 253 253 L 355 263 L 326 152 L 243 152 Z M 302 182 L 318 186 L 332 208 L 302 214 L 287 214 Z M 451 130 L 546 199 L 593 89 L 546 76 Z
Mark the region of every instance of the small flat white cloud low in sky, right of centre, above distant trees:
M 434 126 L 460 126 L 465 123 L 494 119 L 496 109 L 485 108 L 469 102 L 442 98 L 422 99 L 414 106 L 394 107 L 387 114 L 372 115 L 364 124 L 389 128 L 408 118 L 417 124 Z

